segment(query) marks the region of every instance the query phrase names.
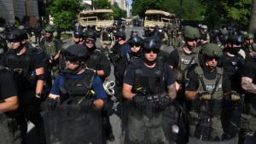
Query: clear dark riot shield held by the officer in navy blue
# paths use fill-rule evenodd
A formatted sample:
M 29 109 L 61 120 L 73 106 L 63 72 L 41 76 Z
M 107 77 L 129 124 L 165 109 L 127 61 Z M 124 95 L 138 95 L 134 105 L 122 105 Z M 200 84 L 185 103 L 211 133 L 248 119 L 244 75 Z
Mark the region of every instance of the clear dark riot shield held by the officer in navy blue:
M 82 111 L 77 105 L 61 104 L 42 112 L 47 143 L 102 144 L 102 120 L 98 110 Z

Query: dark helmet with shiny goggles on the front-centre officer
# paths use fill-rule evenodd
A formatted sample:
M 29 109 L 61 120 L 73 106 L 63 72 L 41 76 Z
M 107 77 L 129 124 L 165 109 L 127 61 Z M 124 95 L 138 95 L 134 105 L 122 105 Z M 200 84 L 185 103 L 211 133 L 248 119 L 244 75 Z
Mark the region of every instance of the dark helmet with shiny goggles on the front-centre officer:
M 160 52 L 160 39 L 157 37 L 148 37 L 144 39 L 143 42 L 143 52 L 149 53 L 153 51 L 154 53 Z

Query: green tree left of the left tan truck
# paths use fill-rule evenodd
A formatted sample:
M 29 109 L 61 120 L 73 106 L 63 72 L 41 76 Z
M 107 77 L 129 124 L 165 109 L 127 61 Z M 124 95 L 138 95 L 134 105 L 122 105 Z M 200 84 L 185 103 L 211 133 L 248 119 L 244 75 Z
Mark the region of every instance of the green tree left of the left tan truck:
M 72 28 L 81 9 L 81 0 L 54 0 L 48 8 L 55 26 L 61 29 Z

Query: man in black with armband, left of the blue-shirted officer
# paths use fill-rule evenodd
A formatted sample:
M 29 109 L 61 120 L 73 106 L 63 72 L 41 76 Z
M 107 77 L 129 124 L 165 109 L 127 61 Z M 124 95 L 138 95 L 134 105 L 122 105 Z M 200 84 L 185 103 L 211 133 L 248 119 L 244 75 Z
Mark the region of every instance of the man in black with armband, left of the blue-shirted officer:
M 44 123 L 40 115 L 44 86 L 42 57 L 36 49 L 26 47 L 26 38 L 21 30 L 12 30 L 8 33 L 7 39 L 12 49 L 3 56 L 2 64 L 14 74 L 18 87 L 20 101 L 18 122 L 22 127 L 22 143 L 26 143 L 27 121 L 31 121 L 35 125 L 39 143 L 43 144 L 45 143 Z

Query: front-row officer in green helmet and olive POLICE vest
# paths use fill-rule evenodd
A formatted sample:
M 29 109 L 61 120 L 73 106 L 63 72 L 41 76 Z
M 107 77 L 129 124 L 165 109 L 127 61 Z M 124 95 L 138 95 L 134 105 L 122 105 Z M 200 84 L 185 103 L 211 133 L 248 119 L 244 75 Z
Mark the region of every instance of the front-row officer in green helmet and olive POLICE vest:
M 222 102 L 237 101 L 238 93 L 231 91 L 230 79 L 223 68 L 217 67 L 222 50 L 217 44 L 207 43 L 201 49 L 201 65 L 188 73 L 186 98 L 189 105 L 189 143 L 236 143 L 236 138 L 224 139 Z

